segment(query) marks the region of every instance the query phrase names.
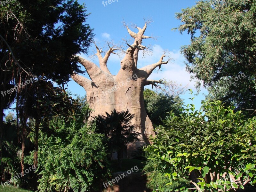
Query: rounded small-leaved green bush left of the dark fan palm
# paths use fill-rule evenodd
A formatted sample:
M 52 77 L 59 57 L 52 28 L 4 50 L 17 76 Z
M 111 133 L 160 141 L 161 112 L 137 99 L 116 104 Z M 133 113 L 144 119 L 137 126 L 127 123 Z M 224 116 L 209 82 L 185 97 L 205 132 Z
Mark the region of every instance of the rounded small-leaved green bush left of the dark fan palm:
M 84 116 L 69 123 L 57 118 L 50 127 L 55 134 L 40 132 L 38 150 L 38 191 L 97 191 L 100 180 L 108 178 L 105 136 L 94 125 L 84 125 Z

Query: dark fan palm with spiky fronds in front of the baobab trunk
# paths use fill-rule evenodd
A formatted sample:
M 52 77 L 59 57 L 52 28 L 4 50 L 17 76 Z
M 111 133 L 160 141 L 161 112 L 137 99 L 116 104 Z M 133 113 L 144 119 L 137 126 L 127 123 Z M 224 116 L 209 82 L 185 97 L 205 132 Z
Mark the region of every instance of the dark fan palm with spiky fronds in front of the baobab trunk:
M 140 136 L 137 124 L 132 124 L 134 114 L 126 111 L 116 111 L 114 109 L 111 114 L 106 112 L 106 116 L 98 115 L 94 117 L 96 121 L 96 132 L 104 134 L 108 138 L 108 149 L 110 158 L 113 151 L 117 151 L 119 167 L 122 166 L 122 157 L 126 152 L 127 145 L 134 144 Z

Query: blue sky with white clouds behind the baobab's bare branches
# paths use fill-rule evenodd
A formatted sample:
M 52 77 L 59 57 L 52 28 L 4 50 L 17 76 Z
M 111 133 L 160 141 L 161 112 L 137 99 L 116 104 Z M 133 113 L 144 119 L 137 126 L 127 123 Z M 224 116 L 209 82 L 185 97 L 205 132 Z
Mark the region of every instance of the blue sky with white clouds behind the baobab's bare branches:
M 139 55 L 138 67 L 141 68 L 145 65 L 157 62 L 164 50 L 171 52 L 171 57 L 174 59 L 172 63 L 162 65 L 162 71 L 154 71 L 148 79 L 159 80 L 166 78 L 168 80 L 181 83 L 183 85 L 189 84 L 188 88 L 195 91 L 194 82 L 190 82 L 190 74 L 185 70 L 184 58 L 180 55 L 180 46 L 190 43 L 190 37 L 187 33 L 181 35 L 178 31 L 171 30 L 178 27 L 181 22 L 175 18 L 176 12 L 181 12 L 182 9 L 191 7 L 196 4 L 194 0 L 161 0 L 161 1 L 146 1 L 146 0 L 118 0 L 111 4 L 103 5 L 101 0 L 84 1 L 79 0 L 80 4 L 85 3 L 87 13 L 91 13 L 87 22 L 91 28 L 94 28 L 95 41 L 99 42 L 99 46 L 106 46 L 106 41 L 113 41 L 114 44 L 122 44 L 122 39 L 131 38 L 123 26 L 123 21 L 130 26 L 134 32 L 137 29 L 132 28 L 132 24 L 138 27 L 144 26 L 144 18 L 151 19 L 153 22 L 148 26 L 144 35 L 155 36 L 154 39 L 144 39 L 143 45 L 153 46 L 153 53 L 142 58 Z M 87 55 L 82 55 L 89 58 L 95 51 L 94 45 L 90 47 L 90 52 Z M 104 49 L 103 49 L 104 50 Z M 112 74 L 117 74 L 120 69 L 120 58 L 112 54 L 108 60 L 108 68 Z M 98 64 L 97 58 L 93 62 Z M 81 67 L 84 70 L 84 67 Z M 88 75 L 84 75 L 88 78 Z M 72 79 L 68 83 L 68 89 L 77 95 L 84 95 L 86 92 L 83 87 L 79 86 Z M 151 86 L 148 86 L 151 88 Z M 204 99 L 203 93 L 207 91 L 202 88 L 199 95 L 195 96 L 194 104 L 196 108 L 200 108 L 200 102 Z M 188 99 L 191 95 L 187 92 L 181 95 L 185 104 L 191 103 Z

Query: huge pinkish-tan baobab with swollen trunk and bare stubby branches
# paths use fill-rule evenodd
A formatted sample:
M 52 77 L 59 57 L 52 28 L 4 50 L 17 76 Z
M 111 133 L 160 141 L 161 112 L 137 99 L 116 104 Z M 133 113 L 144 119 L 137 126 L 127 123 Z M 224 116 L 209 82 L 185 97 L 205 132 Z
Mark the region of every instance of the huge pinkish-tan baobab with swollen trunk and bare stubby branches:
M 141 44 L 142 39 L 151 38 L 144 36 L 147 24 L 148 22 L 145 22 L 143 28 L 136 27 L 139 30 L 138 33 L 133 32 L 124 24 L 130 36 L 134 38 L 134 43 L 131 45 L 127 43 L 129 47 L 125 51 L 124 58 L 121 60 L 121 68 L 116 75 L 112 75 L 108 70 L 107 61 L 110 54 L 115 53 L 114 51 L 118 48 L 109 46 L 103 57 L 101 49 L 95 44 L 100 66 L 79 56 L 79 62 L 85 67 L 90 79 L 78 74 L 73 75 L 72 79 L 84 87 L 87 101 L 95 110 L 92 116 L 104 115 L 105 112 L 109 113 L 114 108 L 117 111 L 129 109 L 132 114 L 135 114 L 132 123 L 138 124 L 140 128 L 142 135 L 140 143 L 149 144 L 148 138 L 150 135 L 155 135 L 155 132 L 144 107 L 143 89 L 149 84 L 157 86 L 158 83 L 162 83 L 162 80 L 148 80 L 148 76 L 155 68 L 167 64 L 170 58 L 163 54 L 158 62 L 137 68 L 139 51 L 146 48 Z M 167 61 L 163 61 L 164 57 L 168 58 Z

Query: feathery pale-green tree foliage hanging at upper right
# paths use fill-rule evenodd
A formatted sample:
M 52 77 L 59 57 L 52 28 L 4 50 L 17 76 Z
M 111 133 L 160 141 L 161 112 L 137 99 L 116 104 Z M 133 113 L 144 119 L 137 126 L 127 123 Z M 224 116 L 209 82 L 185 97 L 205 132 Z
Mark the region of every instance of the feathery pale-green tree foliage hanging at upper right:
M 256 1 L 208 0 L 183 9 L 176 17 L 191 43 L 181 47 L 187 70 L 210 86 L 214 100 L 236 108 L 256 108 Z M 235 78 L 244 74 L 246 78 Z M 221 89 L 226 87 L 225 90 Z

